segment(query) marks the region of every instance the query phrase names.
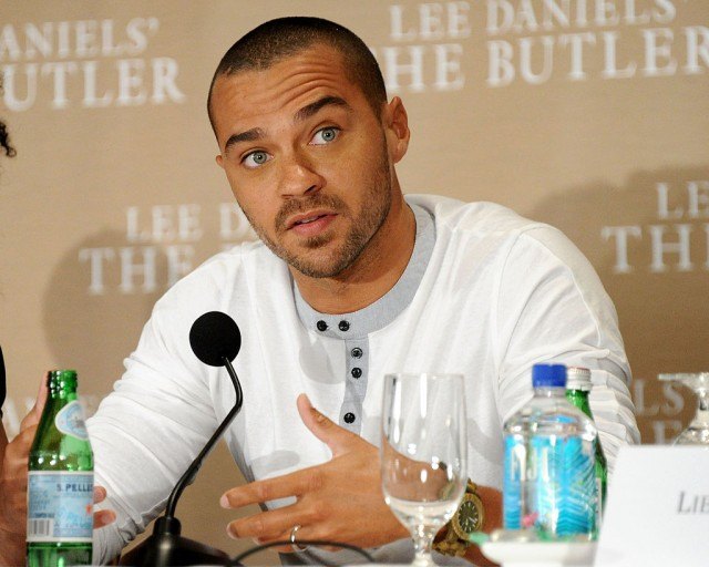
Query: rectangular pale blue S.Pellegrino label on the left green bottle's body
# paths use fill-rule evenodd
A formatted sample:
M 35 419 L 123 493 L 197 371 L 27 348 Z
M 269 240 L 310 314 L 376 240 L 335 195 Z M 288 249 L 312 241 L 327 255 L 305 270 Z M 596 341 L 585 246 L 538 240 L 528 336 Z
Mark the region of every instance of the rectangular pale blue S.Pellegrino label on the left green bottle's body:
M 30 471 L 28 543 L 91 543 L 93 473 Z

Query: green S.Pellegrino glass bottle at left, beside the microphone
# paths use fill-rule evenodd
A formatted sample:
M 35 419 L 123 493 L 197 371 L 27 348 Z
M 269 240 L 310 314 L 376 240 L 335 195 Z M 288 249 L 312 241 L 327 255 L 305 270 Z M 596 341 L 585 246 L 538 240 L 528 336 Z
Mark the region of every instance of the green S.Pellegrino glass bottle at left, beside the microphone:
M 91 565 L 93 452 L 76 372 L 51 370 L 47 385 L 29 458 L 27 566 Z

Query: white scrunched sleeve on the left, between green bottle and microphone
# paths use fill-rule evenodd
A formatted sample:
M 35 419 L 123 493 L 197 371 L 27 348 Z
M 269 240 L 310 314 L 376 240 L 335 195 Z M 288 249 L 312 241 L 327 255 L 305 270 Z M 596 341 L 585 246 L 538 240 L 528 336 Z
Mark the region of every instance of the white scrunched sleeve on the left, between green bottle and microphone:
M 117 516 L 94 533 L 94 563 L 120 554 L 162 512 L 216 429 L 208 371 L 193 360 L 186 319 L 172 298 L 156 305 L 123 378 L 88 422 L 95 484 L 107 492 L 99 507 Z

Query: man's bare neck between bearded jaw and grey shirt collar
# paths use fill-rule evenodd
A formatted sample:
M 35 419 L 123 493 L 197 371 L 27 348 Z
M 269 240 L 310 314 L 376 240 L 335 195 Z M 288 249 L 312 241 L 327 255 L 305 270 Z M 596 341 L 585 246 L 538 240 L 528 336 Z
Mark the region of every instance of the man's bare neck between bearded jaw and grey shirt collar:
M 415 218 L 403 196 L 391 210 L 367 248 L 345 271 L 333 278 L 311 278 L 290 268 L 302 298 L 322 313 L 349 313 L 373 303 L 399 280 L 413 252 Z

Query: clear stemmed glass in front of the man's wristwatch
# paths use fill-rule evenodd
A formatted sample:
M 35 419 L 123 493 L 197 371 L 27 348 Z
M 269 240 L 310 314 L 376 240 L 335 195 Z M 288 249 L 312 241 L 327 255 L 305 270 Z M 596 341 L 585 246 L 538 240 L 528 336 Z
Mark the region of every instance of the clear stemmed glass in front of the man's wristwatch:
M 382 408 L 384 499 L 413 538 L 417 567 L 465 492 L 462 374 L 387 374 Z

